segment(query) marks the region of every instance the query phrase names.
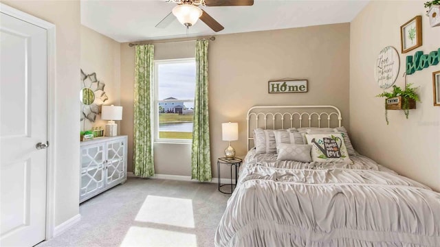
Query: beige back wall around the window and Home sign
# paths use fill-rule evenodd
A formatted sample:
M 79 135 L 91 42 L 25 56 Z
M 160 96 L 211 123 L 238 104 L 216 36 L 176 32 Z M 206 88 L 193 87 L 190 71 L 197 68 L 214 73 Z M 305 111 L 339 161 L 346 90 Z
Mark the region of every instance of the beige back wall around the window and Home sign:
M 221 123 L 239 122 L 239 141 L 232 146 L 246 153 L 246 112 L 263 104 L 331 104 L 342 110 L 342 124 L 349 126 L 349 23 L 320 25 L 216 36 L 209 49 L 209 97 L 212 173 L 228 143 L 221 141 Z M 194 43 L 155 46 L 156 59 L 193 56 Z M 162 55 L 163 54 L 163 55 Z M 134 49 L 121 44 L 122 134 L 133 133 Z M 309 80 L 308 93 L 268 94 L 267 82 L 281 78 Z M 132 139 L 130 138 L 130 141 Z M 190 148 L 183 144 L 155 145 L 157 174 L 190 176 Z M 189 146 L 189 145 L 187 145 Z M 170 152 L 179 154 L 170 157 Z M 129 145 L 129 164 L 132 148 Z M 161 157 L 166 157 L 164 160 Z M 130 167 L 129 167 L 130 169 Z M 228 178 L 227 170 L 222 177 Z

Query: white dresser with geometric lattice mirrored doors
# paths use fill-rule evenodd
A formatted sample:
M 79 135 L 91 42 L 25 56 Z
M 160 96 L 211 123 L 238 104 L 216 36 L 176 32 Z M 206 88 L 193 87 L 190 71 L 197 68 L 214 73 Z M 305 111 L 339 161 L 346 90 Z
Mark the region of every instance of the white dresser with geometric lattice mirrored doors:
M 80 202 L 126 181 L 127 136 L 99 137 L 80 144 Z

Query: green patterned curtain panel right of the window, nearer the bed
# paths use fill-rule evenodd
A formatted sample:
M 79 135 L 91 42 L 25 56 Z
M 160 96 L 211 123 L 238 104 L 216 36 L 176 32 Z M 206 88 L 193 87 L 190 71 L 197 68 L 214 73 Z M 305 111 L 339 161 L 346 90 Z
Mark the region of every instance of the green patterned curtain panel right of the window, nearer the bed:
M 196 86 L 194 99 L 194 127 L 192 128 L 191 179 L 210 181 L 211 154 L 208 115 L 208 40 L 197 40 L 195 45 Z

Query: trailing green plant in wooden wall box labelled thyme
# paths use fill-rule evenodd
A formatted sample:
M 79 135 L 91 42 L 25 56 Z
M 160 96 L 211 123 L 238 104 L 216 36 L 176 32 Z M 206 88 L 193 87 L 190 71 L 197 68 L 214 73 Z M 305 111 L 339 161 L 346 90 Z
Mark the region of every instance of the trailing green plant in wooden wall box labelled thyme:
M 393 91 L 384 92 L 376 97 L 385 97 L 385 120 L 388 125 L 388 110 L 404 110 L 406 119 L 410 114 L 410 109 L 415 109 L 415 102 L 420 102 L 419 95 L 416 91 L 419 87 L 411 87 L 412 83 L 408 83 L 405 86 L 405 90 L 402 90 L 399 86 L 394 85 Z

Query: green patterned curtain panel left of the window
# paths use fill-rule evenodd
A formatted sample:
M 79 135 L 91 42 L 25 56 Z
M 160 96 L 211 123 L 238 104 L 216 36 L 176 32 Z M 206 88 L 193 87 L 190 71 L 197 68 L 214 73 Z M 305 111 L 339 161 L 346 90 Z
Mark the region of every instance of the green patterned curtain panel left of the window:
M 135 109 L 134 154 L 135 176 L 154 176 L 153 139 L 151 139 L 151 75 L 153 73 L 153 45 L 135 48 Z

